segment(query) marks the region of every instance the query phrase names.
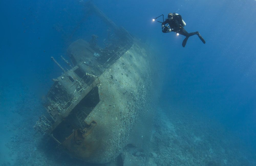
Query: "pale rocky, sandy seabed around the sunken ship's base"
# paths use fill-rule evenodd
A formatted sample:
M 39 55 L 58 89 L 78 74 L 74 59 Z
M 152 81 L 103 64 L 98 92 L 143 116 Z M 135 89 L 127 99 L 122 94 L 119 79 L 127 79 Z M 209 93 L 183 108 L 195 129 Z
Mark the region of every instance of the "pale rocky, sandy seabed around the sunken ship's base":
M 221 125 L 170 105 L 156 107 L 150 139 L 140 140 L 144 148 L 128 144 L 115 161 L 85 163 L 62 152 L 53 140 L 42 141 L 33 126 L 45 110 L 34 94 L 24 93 L 22 98 L 12 109 L 16 118 L 1 122 L 9 136 L 1 165 L 256 165 L 255 153 Z

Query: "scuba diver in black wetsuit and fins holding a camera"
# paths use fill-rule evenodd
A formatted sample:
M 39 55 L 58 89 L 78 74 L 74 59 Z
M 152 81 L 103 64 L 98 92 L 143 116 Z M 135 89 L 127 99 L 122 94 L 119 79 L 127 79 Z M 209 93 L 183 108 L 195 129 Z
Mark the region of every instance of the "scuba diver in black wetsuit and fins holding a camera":
M 165 26 L 168 24 L 167 26 Z M 168 33 L 168 32 L 176 32 L 178 34 L 182 34 L 186 36 L 186 38 L 182 42 L 182 46 L 185 47 L 187 40 L 190 36 L 193 36 L 195 34 L 198 35 L 199 39 L 205 44 L 204 38 L 200 35 L 198 31 L 188 33 L 184 26 L 186 26 L 186 23 L 183 21 L 182 17 L 177 13 L 169 13 L 168 18 L 165 19 L 165 21 L 162 23 L 162 32 Z

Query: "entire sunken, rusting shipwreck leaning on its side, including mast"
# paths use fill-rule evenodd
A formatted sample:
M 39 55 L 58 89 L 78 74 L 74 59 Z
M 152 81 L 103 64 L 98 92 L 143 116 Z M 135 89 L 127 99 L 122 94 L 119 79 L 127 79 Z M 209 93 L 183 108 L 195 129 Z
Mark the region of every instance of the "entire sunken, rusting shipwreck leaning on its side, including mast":
M 95 5 L 85 3 L 114 33 L 109 31 L 105 48 L 97 36 L 79 39 L 67 49 L 71 67 L 53 79 L 44 115 L 35 127 L 50 135 L 73 157 L 106 163 L 129 143 L 137 117 L 145 108 L 157 75 L 156 59 L 123 28 L 117 27 Z

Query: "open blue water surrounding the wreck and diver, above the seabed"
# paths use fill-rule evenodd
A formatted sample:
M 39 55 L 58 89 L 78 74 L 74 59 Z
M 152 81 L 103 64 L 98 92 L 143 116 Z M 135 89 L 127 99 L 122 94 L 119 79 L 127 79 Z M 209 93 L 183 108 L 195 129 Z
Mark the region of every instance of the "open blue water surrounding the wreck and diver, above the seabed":
M 95 0 L 93 3 L 116 25 L 152 45 L 159 59 L 166 62 L 159 107 L 169 104 L 189 114 L 210 118 L 241 139 L 248 151 L 256 151 L 256 1 Z M 10 125 L 29 116 L 28 110 L 36 109 L 33 100 L 40 102 L 52 85 L 51 78 L 61 73 L 50 57 L 60 61 L 68 45 L 79 38 L 90 40 L 91 34 L 97 34 L 104 39 L 107 27 L 96 16 L 86 19 L 73 33 L 83 19 L 83 12 L 78 1 L 0 2 L 0 118 L 4 133 L 0 163 L 3 165 L 15 163 L 15 156 L 9 155 L 5 145 L 16 132 Z M 192 36 L 183 48 L 182 35 L 162 33 L 161 23 L 152 22 L 152 18 L 161 14 L 166 18 L 169 12 L 182 15 L 187 24 L 185 29 L 199 31 L 206 44 Z M 21 113 L 23 102 L 32 103 L 33 108 Z M 43 110 L 33 111 L 36 117 Z M 168 114 L 169 110 L 164 112 Z M 256 156 L 251 155 L 255 160 Z

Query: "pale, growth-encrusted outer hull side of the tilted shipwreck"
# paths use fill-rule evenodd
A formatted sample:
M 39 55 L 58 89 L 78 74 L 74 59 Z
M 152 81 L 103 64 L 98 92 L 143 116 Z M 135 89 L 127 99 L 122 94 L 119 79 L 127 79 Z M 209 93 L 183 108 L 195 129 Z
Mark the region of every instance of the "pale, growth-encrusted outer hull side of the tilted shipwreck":
M 99 77 L 100 102 L 85 119 L 88 124 L 95 121 L 97 125 L 80 145 L 76 145 L 74 134 L 71 135 L 67 145 L 71 153 L 97 163 L 108 162 L 119 155 L 136 125 L 138 112 L 145 111 L 145 102 L 149 99 L 154 72 L 148 58 L 133 46 Z

